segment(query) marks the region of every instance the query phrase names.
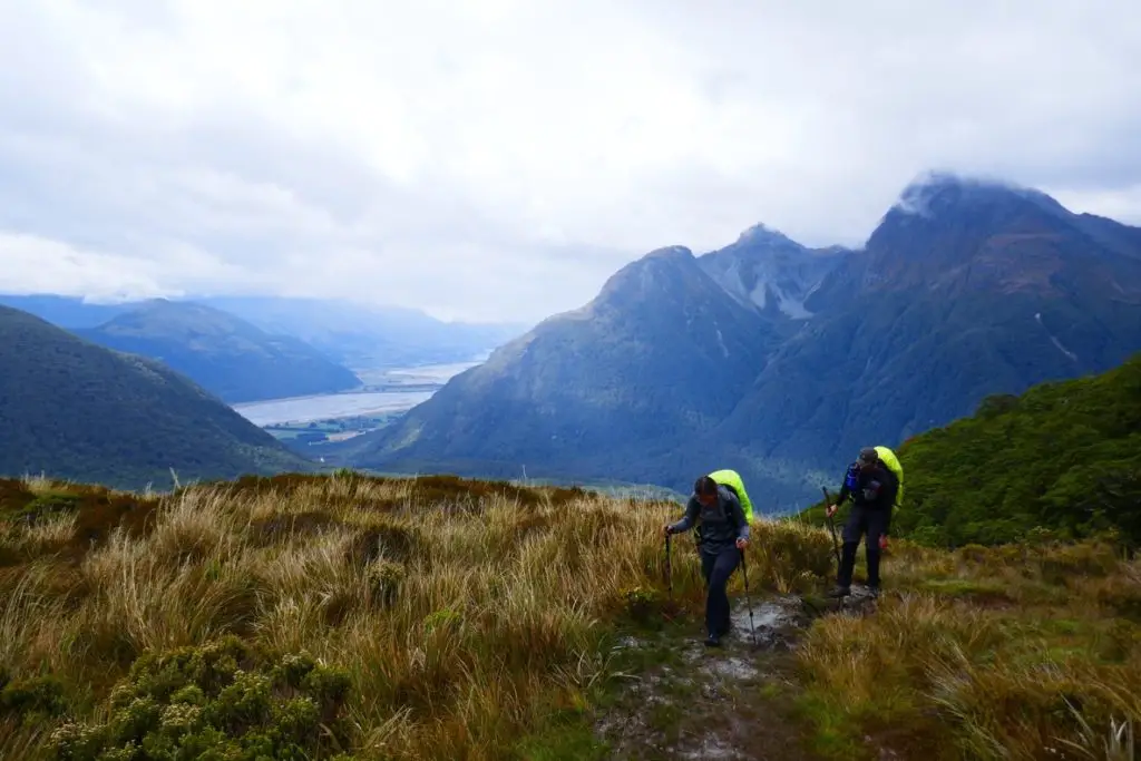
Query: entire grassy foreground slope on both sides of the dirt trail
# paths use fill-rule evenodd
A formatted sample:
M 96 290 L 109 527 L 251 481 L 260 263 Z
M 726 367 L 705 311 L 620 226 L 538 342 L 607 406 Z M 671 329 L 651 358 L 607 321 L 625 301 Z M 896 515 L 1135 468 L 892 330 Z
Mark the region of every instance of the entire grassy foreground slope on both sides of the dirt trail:
M 68 717 L 105 718 L 113 686 L 140 656 L 227 633 L 274 657 L 309 653 L 333 670 L 306 683 L 339 709 L 326 717 L 330 737 L 354 758 L 601 758 L 591 709 L 614 705 L 625 683 L 616 670 L 650 665 L 613 659 L 616 637 L 673 618 L 658 632 L 664 657 L 699 633 L 688 537 L 674 542 L 674 598 L 664 599 L 658 529 L 675 504 L 338 475 L 154 499 L 0 481 L 0 666 L 13 680 L 0 694 L 3 758 L 49 758 L 60 724 L 57 737 L 75 747 L 94 735 Z M 123 532 L 111 533 L 120 520 Z M 799 521 L 755 529 L 754 601 L 814 594 L 830 581 L 826 532 Z M 903 758 L 988 758 L 995 747 L 1059 758 L 1042 748 L 1100 742 L 1111 719 L 1141 719 L 1138 561 L 1097 544 L 950 554 L 903 542 L 885 577 L 900 593 L 876 614 L 817 620 L 788 656 L 790 681 L 738 696 L 754 709 L 758 737 L 774 737 L 774 721 L 790 730 L 785 715 L 755 711 L 774 696 L 808 745 L 852 759 L 875 758 L 865 736 Z M 731 593 L 741 590 L 736 575 Z M 155 665 L 145 661 L 136 670 L 130 694 L 159 694 L 171 679 L 146 677 Z M 337 673 L 347 678 L 343 695 L 330 687 Z M 256 723 L 251 711 L 261 710 L 237 701 L 254 695 L 242 685 L 210 704 L 232 713 L 246 705 L 233 727 Z M 661 721 L 728 710 L 678 699 Z M 105 731 L 161 724 L 177 737 L 187 715 L 202 715 L 153 705 L 124 699 Z M 296 731 L 305 705 L 266 715 Z M 774 748 L 746 752 L 771 758 Z

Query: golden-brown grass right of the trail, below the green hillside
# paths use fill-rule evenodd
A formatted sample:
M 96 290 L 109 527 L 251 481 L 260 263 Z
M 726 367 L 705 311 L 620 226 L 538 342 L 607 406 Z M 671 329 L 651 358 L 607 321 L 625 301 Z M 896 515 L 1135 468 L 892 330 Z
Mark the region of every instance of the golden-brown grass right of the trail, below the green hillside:
M 907 758 L 1134 758 L 1141 561 L 1106 541 L 889 556 L 897 591 L 801 645 L 823 748 L 873 758 L 871 736 Z

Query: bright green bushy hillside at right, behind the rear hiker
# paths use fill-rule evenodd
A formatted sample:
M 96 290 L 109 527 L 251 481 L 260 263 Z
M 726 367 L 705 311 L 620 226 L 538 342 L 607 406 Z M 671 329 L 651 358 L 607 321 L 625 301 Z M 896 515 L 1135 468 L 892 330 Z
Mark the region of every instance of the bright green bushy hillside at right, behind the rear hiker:
M 974 415 L 905 442 L 892 534 L 1000 544 L 1046 529 L 1117 529 L 1141 543 L 1141 354 L 1109 372 L 987 397 Z M 839 476 L 836 487 L 839 488 Z M 807 511 L 820 520 L 822 505 Z

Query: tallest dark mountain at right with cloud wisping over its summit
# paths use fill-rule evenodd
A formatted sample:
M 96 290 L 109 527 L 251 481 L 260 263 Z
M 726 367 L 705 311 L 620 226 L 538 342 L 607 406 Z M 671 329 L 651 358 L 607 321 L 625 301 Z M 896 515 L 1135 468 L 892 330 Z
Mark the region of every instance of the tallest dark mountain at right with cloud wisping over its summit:
M 808 298 L 817 316 L 710 446 L 835 471 L 988 395 L 1119 365 L 1141 348 L 1141 246 L 1135 228 L 1112 232 L 1107 245 L 1035 191 L 946 176 L 909 186 Z

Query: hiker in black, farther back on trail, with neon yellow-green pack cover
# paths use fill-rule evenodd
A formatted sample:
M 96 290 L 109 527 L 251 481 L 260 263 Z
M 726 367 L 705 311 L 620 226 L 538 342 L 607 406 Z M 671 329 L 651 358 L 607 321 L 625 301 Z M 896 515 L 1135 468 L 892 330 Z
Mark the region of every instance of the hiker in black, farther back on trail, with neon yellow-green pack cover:
M 836 572 L 836 586 L 828 592 L 830 597 L 847 597 L 851 593 L 856 548 L 859 547 L 860 536 L 865 534 L 867 586 L 873 597 L 880 594 L 880 551 L 888 541 L 891 509 L 896 503 L 898 489 L 899 480 L 896 473 L 881 460 L 875 447 L 861 448 L 859 458 L 848 467 L 839 499 L 828 505 L 827 510 L 831 518 L 844 500 L 851 496 L 852 510 L 843 529 L 843 556 Z

